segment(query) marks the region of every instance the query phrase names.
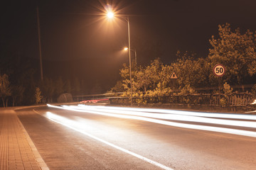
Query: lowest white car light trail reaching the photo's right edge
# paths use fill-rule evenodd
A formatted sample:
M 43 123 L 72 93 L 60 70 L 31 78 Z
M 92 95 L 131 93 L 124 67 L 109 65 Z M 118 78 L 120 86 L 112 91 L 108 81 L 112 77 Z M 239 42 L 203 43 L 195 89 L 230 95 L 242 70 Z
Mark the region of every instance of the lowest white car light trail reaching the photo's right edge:
M 188 129 L 195 129 L 195 130 L 207 130 L 207 131 L 212 131 L 212 132 L 223 132 L 223 133 L 229 133 L 233 135 L 243 135 L 243 136 L 248 136 L 248 137 L 256 137 L 256 132 L 252 131 L 247 131 L 247 130 L 235 130 L 235 129 L 230 129 L 230 128 L 218 128 L 218 127 L 211 127 L 211 126 L 205 126 L 205 125 L 190 125 L 186 123 L 174 123 L 174 122 L 169 122 L 166 120 L 157 120 L 154 118 L 144 118 L 144 117 L 139 117 L 136 115 L 117 115 L 115 113 L 102 113 L 102 111 L 92 111 L 92 110 L 81 110 L 81 109 L 75 109 L 73 108 L 74 106 L 51 106 L 48 105 L 49 107 L 54 107 L 54 108 L 61 108 L 61 109 L 66 109 L 70 111 L 78 111 L 78 112 L 86 112 L 86 113 L 94 113 L 98 115 L 107 115 L 107 116 L 112 116 L 115 118 L 127 118 L 127 119 L 134 119 L 134 120 L 143 120 L 151 123 L 159 123 L 162 125 L 170 125 L 178 128 L 188 128 Z

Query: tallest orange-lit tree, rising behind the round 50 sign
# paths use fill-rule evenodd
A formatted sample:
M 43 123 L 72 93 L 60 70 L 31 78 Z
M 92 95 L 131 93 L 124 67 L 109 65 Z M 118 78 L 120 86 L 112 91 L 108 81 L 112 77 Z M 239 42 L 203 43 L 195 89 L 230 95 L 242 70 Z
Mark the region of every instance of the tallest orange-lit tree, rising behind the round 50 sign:
M 250 30 L 241 34 L 239 28 L 232 31 L 228 23 L 219 25 L 218 31 L 219 38 L 212 36 L 209 40 L 212 45 L 208 55 L 211 67 L 223 64 L 227 70 L 223 81 L 242 84 L 245 78 L 256 73 L 255 34 Z M 217 77 L 212 74 L 211 79 L 215 81 Z

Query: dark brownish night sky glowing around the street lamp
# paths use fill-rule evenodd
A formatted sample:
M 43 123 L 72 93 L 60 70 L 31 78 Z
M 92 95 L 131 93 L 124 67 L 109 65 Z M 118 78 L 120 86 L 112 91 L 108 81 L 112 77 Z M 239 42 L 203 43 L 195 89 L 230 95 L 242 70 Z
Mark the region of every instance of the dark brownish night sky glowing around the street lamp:
M 111 81 L 111 86 L 119 79 L 122 63 L 128 63 L 122 51 L 128 35 L 126 21 L 115 18 L 110 22 L 100 15 L 106 4 L 129 15 L 131 46 L 137 50 L 139 64 L 157 57 L 169 64 L 176 60 L 177 50 L 206 57 L 208 40 L 218 35 L 219 24 L 230 23 L 242 32 L 256 30 L 254 0 L 10 0 L 1 3 L 0 57 L 39 58 L 38 6 L 44 63 L 70 63 L 58 70 L 43 63 L 45 75 L 69 74 L 102 85 Z

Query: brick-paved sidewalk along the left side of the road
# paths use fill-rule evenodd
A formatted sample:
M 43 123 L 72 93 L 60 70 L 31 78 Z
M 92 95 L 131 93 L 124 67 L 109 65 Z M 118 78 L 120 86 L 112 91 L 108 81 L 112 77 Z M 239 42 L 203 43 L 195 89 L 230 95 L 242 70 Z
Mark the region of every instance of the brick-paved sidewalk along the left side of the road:
M 47 170 L 13 108 L 0 109 L 0 170 Z

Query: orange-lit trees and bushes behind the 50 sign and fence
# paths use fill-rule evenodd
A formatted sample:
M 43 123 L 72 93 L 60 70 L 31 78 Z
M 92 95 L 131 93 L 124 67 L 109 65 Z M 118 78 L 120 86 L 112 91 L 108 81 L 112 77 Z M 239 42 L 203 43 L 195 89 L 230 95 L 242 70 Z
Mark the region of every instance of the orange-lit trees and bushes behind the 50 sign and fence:
M 163 64 L 159 58 L 147 66 L 132 63 L 132 91 L 136 102 L 146 103 L 147 97 L 210 93 L 223 94 L 220 104 L 225 106 L 228 96 L 235 92 L 231 86 L 239 86 L 244 90 L 244 84 L 255 84 L 255 33 L 250 30 L 240 33 L 239 28 L 231 30 L 230 24 L 226 23 L 218 26 L 218 36 L 212 36 L 209 42 L 211 47 L 206 57 L 178 51 L 177 60 L 171 64 Z M 213 74 L 215 64 L 225 67 L 223 77 Z M 171 79 L 173 72 L 178 79 Z M 127 64 L 120 70 L 120 76 L 121 81 L 109 92 L 124 92 L 122 96 L 129 97 L 131 85 Z M 247 92 L 255 95 L 255 86 Z

